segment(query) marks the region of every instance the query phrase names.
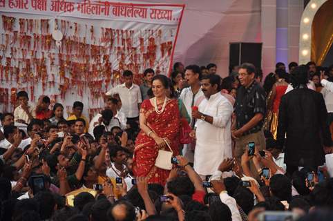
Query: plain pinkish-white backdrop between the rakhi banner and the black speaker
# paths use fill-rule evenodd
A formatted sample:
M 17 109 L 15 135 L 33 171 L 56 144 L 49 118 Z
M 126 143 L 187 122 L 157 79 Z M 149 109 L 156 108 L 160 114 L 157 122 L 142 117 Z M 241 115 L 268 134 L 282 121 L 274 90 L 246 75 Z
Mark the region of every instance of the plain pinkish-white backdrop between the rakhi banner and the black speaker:
M 167 3 L 185 4 L 174 61 L 200 66 L 212 62 L 218 66 L 218 74 L 226 77 L 229 42 L 261 42 L 260 0 L 168 0 Z

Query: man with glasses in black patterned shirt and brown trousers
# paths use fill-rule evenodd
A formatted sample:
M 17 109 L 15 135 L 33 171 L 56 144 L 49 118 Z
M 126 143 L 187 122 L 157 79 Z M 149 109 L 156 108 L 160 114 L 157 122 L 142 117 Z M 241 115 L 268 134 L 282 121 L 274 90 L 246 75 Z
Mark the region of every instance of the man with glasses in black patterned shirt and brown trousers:
M 240 66 L 238 77 L 240 88 L 236 97 L 236 126 L 232 137 L 236 141 L 235 157 L 240 162 L 249 142 L 254 142 L 259 151 L 265 149 L 265 136 L 262 131 L 266 112 L 265 90 L 255 81 L 256 68 L 253 64 L 245 63 Z M 251 165 L 251 171 L 257 174 Z

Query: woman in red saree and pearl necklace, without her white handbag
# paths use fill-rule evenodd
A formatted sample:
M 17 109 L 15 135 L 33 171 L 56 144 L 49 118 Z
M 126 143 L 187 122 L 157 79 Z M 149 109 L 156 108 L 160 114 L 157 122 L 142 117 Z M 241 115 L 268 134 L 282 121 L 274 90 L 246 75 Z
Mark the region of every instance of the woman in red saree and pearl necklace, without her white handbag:
M 169 151 L 179 154 L 180 114 L 178 102 L 167 97 L 168 79 L 164 75 L 153 78 L 153 98 L 142 102 L 140 109 L 140 133 L 137 135 L 133 157 L 133 173 L 136 177 L 148 177 L 149 183 L 164 186 L 170 171 L 155 166 L 158 151 Z

